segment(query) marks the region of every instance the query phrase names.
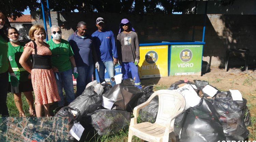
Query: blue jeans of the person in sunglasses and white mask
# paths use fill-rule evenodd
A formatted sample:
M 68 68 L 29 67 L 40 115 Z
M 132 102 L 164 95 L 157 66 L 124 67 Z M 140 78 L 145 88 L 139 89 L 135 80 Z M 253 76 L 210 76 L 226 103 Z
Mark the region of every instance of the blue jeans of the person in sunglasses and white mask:
M 75 100 L 72 69 L 67 71 L 55 72 L 54 77 L 57 83 L 57 88 L 60 96 L 60 101 L 58 101 L 58 105 L 64 106 L 65 104 L 63 91 L 62 91 L 63 88 L 66 93 L 66 100 L 68 104 L 70 104 L 72 101 Z

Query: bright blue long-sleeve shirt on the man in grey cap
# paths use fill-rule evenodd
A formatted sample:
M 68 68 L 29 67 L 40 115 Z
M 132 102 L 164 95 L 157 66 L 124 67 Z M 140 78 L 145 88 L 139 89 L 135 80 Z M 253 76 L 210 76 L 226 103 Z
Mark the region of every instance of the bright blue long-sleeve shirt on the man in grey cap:
M 95 31 L 92 35 L 93 44 L 95 44 L 98 59 L 109 61 L 118 58 L 115 45 L 115 37 L 112 31 Z

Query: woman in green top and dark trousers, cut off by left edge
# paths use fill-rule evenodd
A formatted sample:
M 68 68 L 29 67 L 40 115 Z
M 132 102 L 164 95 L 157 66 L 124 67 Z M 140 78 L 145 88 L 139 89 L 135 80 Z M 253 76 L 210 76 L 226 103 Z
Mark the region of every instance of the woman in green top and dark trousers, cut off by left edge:
M 6 105 L 7 92 L 8 92 L 8 72 L 11 77 L 12 86 L 18 85 L 18 79 L 13 73 L 10 62 L 7 58 L 8 44 L 4 32 L 5 15 L 0 11 L 0 115 L 8 117 L 9 112 Z

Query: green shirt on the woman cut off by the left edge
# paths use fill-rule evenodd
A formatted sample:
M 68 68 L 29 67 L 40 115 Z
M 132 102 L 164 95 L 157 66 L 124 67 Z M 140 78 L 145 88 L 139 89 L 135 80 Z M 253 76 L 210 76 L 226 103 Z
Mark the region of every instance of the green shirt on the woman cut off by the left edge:
M 8 71 L 9 63 L 7 58 L 8 44 L 0 35 L 0 73 Z

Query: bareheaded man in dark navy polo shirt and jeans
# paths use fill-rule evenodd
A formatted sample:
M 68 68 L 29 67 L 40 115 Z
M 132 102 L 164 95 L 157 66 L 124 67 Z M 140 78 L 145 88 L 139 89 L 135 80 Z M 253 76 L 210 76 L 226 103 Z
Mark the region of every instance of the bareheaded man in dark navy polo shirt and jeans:
M 76 31 L 68 38 L 69 44 L 74 52 L 75 64 L 79 77 L 76 79 L 76 96 L 85 90 L 88 83 L 92 81 L 94 65 L 99 70 L 98 57 L 93 46 L 92 37 L 87 34 L 87 24 L 84 21 L 77 23 Z

